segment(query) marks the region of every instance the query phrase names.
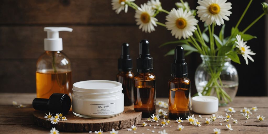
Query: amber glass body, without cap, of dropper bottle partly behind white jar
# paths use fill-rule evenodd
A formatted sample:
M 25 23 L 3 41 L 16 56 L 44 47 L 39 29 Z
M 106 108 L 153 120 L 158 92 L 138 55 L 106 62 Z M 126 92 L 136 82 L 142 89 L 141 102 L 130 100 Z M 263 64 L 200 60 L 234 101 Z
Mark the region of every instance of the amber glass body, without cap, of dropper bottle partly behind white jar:
M 124 93 L 124 105 L 130 106 L 133 104 L 133 78 L 134 74 L 131 71 L 119 72 L 116 76 L 116 81 L 122 83 Z

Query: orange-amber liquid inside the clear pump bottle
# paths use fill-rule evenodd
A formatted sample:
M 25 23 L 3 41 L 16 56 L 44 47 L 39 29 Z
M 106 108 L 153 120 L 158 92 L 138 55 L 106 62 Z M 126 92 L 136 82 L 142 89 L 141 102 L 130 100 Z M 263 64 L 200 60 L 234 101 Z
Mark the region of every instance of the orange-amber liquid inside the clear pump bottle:
M 37 98 L 49 98 L 53 93 L 63 93 L 71 96 L 72 91 L 72 72 L 58 69 L 54 73 L 53 69 L 46 70 L 44 73 L 36 72 L 36 93 Z

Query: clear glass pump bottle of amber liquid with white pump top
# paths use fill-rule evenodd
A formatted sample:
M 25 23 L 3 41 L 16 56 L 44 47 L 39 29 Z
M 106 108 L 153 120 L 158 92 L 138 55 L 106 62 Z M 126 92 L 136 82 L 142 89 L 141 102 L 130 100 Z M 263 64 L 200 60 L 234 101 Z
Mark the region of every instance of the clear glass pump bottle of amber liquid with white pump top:
M 62 52 L 62 38 L 59 31 L 72 32 L 67 27 L 45 27 L 43 53 L 36 63 L 37 98 L 49 98 L 53 93 L 68 94 L 72 91 L 72 69 L 69 58 Z

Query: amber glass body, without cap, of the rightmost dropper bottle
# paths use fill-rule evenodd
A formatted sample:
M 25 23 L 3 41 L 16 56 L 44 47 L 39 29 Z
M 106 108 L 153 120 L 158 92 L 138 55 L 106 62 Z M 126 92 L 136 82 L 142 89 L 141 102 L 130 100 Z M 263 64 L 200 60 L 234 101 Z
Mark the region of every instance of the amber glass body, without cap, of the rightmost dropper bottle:
M 169 117 L 186 119 L 190 114 L 190 80 L 172 78 L 169 80 Z

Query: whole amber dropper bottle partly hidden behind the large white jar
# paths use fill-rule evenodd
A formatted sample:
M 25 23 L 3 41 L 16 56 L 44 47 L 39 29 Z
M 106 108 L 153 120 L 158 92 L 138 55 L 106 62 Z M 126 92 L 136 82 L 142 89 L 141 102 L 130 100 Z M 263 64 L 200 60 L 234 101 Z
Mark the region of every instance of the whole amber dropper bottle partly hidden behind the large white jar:
M 116 81 L 122 83 L 125 106 L 130 106 L 133 104 L 134 74 L 132 72 L 132 59 L 129 55 L 128 43 L 122 44 L 121 57 L 118 59 L 118 71 Z

